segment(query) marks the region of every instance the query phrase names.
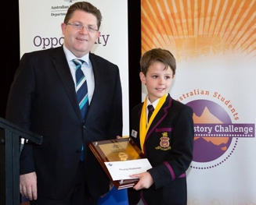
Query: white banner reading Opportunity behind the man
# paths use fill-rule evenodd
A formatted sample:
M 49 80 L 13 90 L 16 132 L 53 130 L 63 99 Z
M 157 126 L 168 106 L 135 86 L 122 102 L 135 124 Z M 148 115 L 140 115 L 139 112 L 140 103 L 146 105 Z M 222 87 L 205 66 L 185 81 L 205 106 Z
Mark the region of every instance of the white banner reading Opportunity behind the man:
M 60 24 L 78 0 L 20 0 L 20 56 L 24 52 L 63 44 Z M 102 12 L 101 35 L 92 52 L 118 65 L 123 91 L 123 135 L 129 134 L 128 106 L 128 3 L 127 0 L 89 0 Z M 121 12 L 120 12 L 121 11 Z

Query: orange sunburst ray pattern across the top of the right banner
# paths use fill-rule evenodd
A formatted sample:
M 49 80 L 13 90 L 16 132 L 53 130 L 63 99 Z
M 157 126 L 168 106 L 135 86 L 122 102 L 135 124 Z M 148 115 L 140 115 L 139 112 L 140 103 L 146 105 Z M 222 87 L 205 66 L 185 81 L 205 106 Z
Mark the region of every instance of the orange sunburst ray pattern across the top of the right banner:
M 142 0 L 142 54 L 175 50 L 176 58 L 256 57 L 256 0 Z

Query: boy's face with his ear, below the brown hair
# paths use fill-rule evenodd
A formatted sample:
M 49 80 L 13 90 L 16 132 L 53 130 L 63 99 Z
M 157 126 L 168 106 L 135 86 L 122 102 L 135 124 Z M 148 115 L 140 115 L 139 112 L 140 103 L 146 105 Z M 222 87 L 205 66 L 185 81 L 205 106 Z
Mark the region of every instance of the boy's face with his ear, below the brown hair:
M 164 68 L 164 63 L 154 62 L 153 65 L 150 65 L 146 76 L 142 72 L 139 73 L 142 84 L 146 85 L 151 103 L 163 97 L 170 90 L 174 75 L 170 67 Z

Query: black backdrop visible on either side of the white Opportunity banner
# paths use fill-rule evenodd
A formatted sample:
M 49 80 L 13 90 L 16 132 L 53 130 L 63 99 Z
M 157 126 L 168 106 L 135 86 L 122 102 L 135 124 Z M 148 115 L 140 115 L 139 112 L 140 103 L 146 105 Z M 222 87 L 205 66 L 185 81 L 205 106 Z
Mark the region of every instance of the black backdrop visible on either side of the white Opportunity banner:
M 11 0 L 3 7 L 2 16 L 2 66 L 0 70 L 0 117 L 5 118 L 5 108 L 14 72 L 20 62 L 19 0 Z M 60 23 L 59 23 L 60 24 Z M 33 28 L 31 28 L 33 29 Z M 141 56 L 140 1 L 128 0 L 128 62 L 129 62 L 129 108 L 141 102 L 139 59 Z M 28 31 L 29 32 L 29 31 Z M 120 31 L 121 32 L 121 31 Z M 124 94 L 125 95 L 125 94 Z

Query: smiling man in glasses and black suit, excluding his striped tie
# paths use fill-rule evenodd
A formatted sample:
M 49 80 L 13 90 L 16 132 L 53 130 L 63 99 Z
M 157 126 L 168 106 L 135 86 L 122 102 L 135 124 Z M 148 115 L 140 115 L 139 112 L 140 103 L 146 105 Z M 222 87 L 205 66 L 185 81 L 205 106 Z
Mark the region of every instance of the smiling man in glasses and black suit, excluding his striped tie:
M 90 53 L 102 16 L 88 2 L 76 2 L 61 24 L 62 47 L 26 53 L 9 93 L 6 119 L 43 136 L 41 146 L 24 144 L 20 193 L 37 205 L 96 204 L 110 181 L 88 142 L 122 134 L 121 80 L 117 65 Z M 76 95 L 76 65 L 88 87 L 82 118 Z

